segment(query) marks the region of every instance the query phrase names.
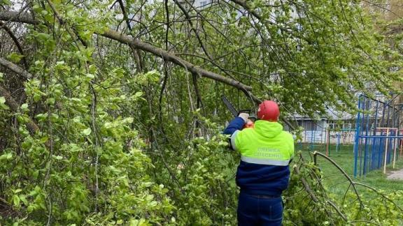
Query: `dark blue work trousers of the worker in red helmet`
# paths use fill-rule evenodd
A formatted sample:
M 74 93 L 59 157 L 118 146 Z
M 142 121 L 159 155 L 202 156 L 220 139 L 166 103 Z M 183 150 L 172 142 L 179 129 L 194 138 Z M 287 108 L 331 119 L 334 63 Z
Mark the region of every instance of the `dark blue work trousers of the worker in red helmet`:
M 250 195 L 241 191 L 238 200 L 238 225 L 280 226 L 283 220 L 281 197 Z

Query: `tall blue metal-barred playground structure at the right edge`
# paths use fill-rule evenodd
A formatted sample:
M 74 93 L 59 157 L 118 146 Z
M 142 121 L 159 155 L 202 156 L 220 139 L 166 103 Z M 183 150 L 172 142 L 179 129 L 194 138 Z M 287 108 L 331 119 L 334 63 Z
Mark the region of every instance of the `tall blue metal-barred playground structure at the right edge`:
M 380 96 L 381 97 L 381 96 Z M 369 98 L 360 95 L 355 123 L 354 176 L 365 175 L 383 167 L 402 156 L 403 129 L 400 128 L 402 104 L 391 100 Z M 399 150 L 399 151 L 398 151 Z

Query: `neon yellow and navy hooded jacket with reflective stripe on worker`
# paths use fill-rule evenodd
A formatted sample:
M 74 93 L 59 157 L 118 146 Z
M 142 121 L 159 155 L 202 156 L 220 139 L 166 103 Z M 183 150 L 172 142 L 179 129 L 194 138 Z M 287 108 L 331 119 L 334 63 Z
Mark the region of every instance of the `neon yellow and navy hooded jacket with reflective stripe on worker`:
M 292 135 L 277 122 L 258 120 L 255 128 L 240 130 L 242 126 L 243 119 L 237 117 L 224 131 L 232 133 L 232 149 L 241 153 L 236 184 L 252 195 L 280 196 L 290 178 L 288 164 L 294 156 Z

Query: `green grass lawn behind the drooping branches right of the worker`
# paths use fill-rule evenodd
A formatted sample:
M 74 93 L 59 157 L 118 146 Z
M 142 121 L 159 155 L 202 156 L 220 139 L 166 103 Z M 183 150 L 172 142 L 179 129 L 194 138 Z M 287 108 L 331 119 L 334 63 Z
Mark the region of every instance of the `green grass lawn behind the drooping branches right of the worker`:
M 320 151 L 321 153 L 325 153 L 325 145 L 315 145 L 313 146 L 313 151 Z M 302 150 L 302 156 L 306 160 L 311 159 L 311 154 L 309 149 L 310 145 L 301 146 L 300 144 L 296 146 L 296 151 Z M 351 176 L 353 181 L 357 181 L 360 183 L 365 183 L 372 188 L 376 188 L 377 190 L 383 190 L 384 193 L 392 193 L 395 190 L 403 190 L 403 180 L 388 180 L 386 179 L 386 174 L 383 174 L 382 169 L 376 169 L 368 172 L 365 176 L 357 176 L 354 178 L 353 176 L 353 166 L 354 166 L 354 154 L 353 154 L 353 145 L 342 145 L 340 146 L 339 151 L 335 151 L 336 146 L 330 146 L 330 158 L 334 160 L 340 167 L 342 167 L 346 173 Z M 337 195 L 338 197 L 343 197 L 344 193 L 350 184 L 346 177 L 341 174 L 337 167 L 334 167 L 332 163 L 330 163 L 325 158 L 318 156 L 318 165 L 323 171 L 324 179 L 323 184 L 326 186 L 327 190 L 330 193 Z M 403 156 L 401 156 L 397 160 L 397 164 L 395 169 L 392 169 L 391 164 L 387 166 L 387 173 L 393 170 L 403 169 Z M 360 194 L 365 196 L 366 198 L 376 197 L 375 193 L 369 192 L 367 188 L 363 188 L 362 186 L 358 186 L 358 190 Z M 398 203 L 400 206 L 403 206 L 403 201 Z

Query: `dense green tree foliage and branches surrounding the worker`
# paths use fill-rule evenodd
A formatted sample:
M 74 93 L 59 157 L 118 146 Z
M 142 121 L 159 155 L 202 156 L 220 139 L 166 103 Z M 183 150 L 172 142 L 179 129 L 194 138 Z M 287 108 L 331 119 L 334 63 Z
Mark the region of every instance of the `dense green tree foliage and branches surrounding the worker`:
M 222 94 L 242 108 L 278 100 L 286 121 L 353 110 L 355 92 L 400 81 L 400 55 L 355 1 L 0 3 L 6 223 L 234 225 L 239 158 L 219 133 Z M 306 176 L 287 196 L 308 193 Z M 305 216 L 305 197 L 288 200 L 285 223 L 399 213 L 316 204 Z

